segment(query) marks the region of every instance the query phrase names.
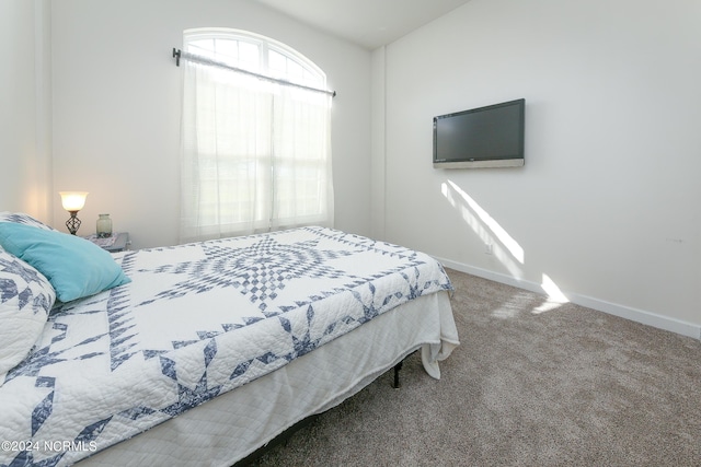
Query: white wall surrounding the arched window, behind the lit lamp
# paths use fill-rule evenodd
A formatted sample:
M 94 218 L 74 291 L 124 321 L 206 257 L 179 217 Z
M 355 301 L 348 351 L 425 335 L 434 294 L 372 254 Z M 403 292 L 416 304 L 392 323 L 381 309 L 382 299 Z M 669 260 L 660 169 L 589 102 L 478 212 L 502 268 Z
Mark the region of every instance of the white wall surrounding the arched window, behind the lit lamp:
M 183 30 L 233 27 L 280 40 L 336 90 L 336 226 L 370 232 L 370 52 L 246 0 L 53 3 L 54 187 L 90 191 L 82 232 L 112 214 L 135 248 L 177 242 Z M 58 195 L 54 212 L 62 220 Z

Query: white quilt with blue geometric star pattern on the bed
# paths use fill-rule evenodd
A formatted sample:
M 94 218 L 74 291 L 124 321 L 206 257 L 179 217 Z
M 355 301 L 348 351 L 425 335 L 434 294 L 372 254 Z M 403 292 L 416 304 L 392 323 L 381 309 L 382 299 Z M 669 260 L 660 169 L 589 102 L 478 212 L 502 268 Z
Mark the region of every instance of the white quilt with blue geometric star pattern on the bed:
M 427 255 L 301 227 L 114 255 L 131 283 L 58 304 L 0 387 L 0 465 L 68 465 L 417 296 Z

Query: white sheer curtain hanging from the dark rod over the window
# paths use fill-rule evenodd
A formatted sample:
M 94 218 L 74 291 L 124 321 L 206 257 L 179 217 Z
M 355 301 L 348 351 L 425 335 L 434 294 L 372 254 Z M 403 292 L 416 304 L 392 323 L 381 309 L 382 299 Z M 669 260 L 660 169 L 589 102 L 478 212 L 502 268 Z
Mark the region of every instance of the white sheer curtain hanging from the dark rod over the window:
M 183 67 L 181 242 L 333 226 L 331 96 Z

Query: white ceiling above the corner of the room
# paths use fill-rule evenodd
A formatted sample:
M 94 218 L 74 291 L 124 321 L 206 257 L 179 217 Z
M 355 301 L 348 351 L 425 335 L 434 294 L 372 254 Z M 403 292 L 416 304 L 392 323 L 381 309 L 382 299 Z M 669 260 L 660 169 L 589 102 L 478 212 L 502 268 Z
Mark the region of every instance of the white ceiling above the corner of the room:
M 399 39 L 470 0 L 257 0 L 370 50 Z

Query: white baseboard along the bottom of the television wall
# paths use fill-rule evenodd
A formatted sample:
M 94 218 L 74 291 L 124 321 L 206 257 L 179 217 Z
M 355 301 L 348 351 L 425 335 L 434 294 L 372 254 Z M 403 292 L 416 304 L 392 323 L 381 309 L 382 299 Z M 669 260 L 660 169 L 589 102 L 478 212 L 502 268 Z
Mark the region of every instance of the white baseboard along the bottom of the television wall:
M 499 272 L 489 271 L 486 269 L 475 268 L 473 266 L 463 265 L 461 262 L 451 261 L 449 259 L 436 258 L 445 267 L 455 269 L 460 272 L 467 272 L 469 275 L 478 276 L 484 279 L 493 280 L 495 282 L 504 283 L 507 285 L 517 287 L 531 292 L 544 294 L 542 287 L 539 283 L 527 281 L 524 279 L 517 279 Z M 619 316 L 621 318 L 630 319 L 636 323 L 642 323 L 647 326 L 653 326 L 659 329 L 676 332 L 682 336 L 692 337 L 701 340 L 701 325 L 683 322 L 681 319 L 673 318 L 669 316 L 657 315 L 655 313 L 645 312 L 643 310 L 631 308 L 630 306 L 619 305 L 616 303 L 606 302 L 604 300 L 595 299 L 593 296 L 581 295 L 577 293 L 568 293 L 563 291 L 564 295 L 572 303 L 586 306 L 588 308 L 597 310 L 599 312 L 608 313 L 609 315 Z

